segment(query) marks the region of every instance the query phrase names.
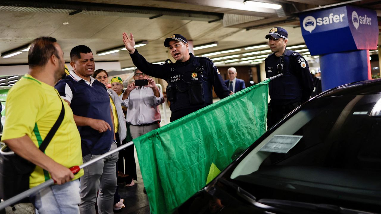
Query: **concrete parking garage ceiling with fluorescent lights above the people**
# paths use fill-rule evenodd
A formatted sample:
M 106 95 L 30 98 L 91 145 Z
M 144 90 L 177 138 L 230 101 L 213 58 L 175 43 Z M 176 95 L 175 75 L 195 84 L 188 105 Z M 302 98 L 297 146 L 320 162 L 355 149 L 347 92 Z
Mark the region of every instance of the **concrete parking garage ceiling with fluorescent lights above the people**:
M 195 55 L 239 47 L 247 53 L 244 47 L 265 44 L 264 36 L 274 26 L 288 30 L 289 46 L 304 43 L 298 19 L 301 11 L 349 3 L 376 10 L 381 17 L 381 3 L 374 0 L 258 1 L 282 8 L 250 6 L 243 0 L 0 0 L 0 52 L 28 45 L 36 37 L 50 36 L 57 38 L 69 62 L 70 50 L 76 45 L 89 46 L 95 55 L 122 46 L 122 33 L 131 32 L 136 41 L 147 41 L 146 46 L 137 48 L 139 53 L 150 62 L 160 62 L 170 58 L 163 41 L 174 33 L 192 40 L 194 46 L 218 42 L 215 47 L 196 50 Z M 133 66 L 127 51 L 95 55 L 94 59 Z M 0 57 L 0 65 L 26 63 L 27 53 Z

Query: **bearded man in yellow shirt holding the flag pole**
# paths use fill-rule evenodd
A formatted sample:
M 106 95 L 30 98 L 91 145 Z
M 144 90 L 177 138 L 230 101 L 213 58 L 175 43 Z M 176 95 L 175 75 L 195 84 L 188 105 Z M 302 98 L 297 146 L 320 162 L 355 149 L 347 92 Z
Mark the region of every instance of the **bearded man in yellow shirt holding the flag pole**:
M 38 147 L 54 125 L 62 99 L 54 84 L 65 72 L 64 53 L 52 37 L 40 37 L 31 44 L 29 72 L 14 85 L 7 97 L 3 142 L 16 154 L 36 164 L 29 185 L 53 178 L 52 185 L 30 197 L 36 213 L 79 214 L 81 169 L 74 175 L 68 168 L 82 164 L 81 139 L 73 112 L 63 102 L 65 115 L 45 152 Z

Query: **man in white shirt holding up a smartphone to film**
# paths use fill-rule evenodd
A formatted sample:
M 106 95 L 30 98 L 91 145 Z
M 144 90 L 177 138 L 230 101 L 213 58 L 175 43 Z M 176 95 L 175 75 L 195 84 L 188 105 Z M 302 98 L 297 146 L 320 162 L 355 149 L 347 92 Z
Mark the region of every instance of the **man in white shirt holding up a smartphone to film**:
M 135 69 L 133 78 L 135 82 L 123 93 L 123 103 L 127 107 L 126 121 L 131 137 L 135 139 L 160 127 L 158 106 L 164 102 L 164 97 L 155 81 L 139 69 Z

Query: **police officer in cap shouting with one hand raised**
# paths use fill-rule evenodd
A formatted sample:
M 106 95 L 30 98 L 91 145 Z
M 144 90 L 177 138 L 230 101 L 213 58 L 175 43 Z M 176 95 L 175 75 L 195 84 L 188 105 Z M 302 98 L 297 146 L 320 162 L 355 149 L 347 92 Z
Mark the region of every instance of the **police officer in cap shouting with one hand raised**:
M 165 39 L 164 46 L 169 48 L 176 62 L 163 65 L 147 62 L 134 48 L 135 40 L 132 34 L 128 37 L 123 33 L 123 43 L 134 65 L 141 72 L 168 82 L 166 94 L 171 102 L 170 121 L 212 104 L 212 86 L 220 99 L 229 96 L 230 92 L 215 64 L 207 57 L 195 57 L 189 53 L 188 41 L 182 35 L 173 34 Z

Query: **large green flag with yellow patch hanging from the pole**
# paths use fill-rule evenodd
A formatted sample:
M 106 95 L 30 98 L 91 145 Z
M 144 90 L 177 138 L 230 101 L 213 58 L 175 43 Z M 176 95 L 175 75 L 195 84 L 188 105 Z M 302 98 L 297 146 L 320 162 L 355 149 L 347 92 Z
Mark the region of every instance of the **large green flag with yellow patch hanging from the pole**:
M 269 81 L 133 140 L 151 214 L 171 213 L 266 131 Z

